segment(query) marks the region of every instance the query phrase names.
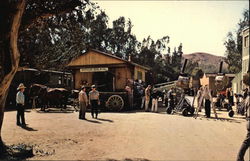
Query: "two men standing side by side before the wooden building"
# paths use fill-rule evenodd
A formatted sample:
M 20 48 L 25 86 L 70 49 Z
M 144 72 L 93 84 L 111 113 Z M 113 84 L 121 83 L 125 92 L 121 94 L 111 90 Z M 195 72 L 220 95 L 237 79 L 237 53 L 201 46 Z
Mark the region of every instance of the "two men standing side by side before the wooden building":
M 96 118 L 98 116 L 98 107 L 100 105 L 100 94 L 96 90 L 96 86 L 92 85 L 91 86 L 91 91 L 87 95 L 86 93 L 86 87 L 83 85 L 81 87 L 81 91 L 79 92 L 78 95 L 78 100 L 79 100 L 79 119 L 86 120 L 86 110 L 87 107 L 91 107 L 91 116 L 92 118 Z M 95 116 L 94 116 L 95 115 Z

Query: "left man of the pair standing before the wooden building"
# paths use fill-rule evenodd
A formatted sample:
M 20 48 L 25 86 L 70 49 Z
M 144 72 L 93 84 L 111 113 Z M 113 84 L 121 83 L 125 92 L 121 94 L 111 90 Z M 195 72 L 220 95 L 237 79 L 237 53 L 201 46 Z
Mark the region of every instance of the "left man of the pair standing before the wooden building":
M 88 105 L 88 96 L 86 94 L 85 86 L 82 86 L 81 91 L 79 92 L 78 100 L 80 106 L 79 119 L 86 120 L 85 113 Z

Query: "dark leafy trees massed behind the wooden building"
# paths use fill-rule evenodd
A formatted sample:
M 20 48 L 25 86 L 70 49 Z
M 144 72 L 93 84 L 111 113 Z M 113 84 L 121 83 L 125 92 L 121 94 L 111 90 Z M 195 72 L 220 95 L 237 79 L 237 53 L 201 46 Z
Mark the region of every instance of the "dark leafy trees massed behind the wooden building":
M 31 6 L 27 9 L 33 12 Z M 24 16 L 25 22 L 30 11 Z M 70 60 L 93 48 L 126 60 L 131 56 L 132 61 L 150 67 L 150 83 L 176 80 L 180 73 L 182 44 L 171 54 L 169 36 L 156 41 L 148 36 L 139 42 L 132 34 L 130 19 L 119 17 L 109 27 L 108 16 L 95 3 L 85 3 L 68 13 L 31 19 L 33 25 L 24 23 L 25 30 L 20 32 L 21 65 L 63 70 Z

